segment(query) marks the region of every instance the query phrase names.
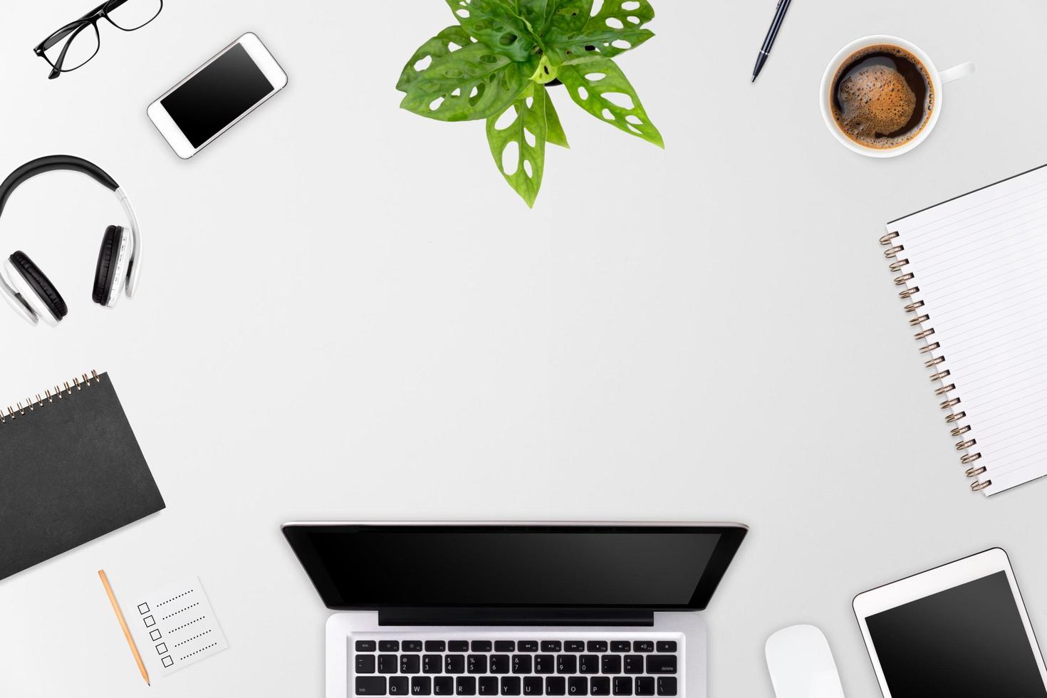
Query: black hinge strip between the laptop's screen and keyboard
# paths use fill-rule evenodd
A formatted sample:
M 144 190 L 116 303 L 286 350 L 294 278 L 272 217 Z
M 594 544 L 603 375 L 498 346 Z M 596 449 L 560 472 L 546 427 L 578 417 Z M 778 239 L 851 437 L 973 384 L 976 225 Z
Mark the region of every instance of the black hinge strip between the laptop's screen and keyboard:
M 541 608 L 391 608 L 382 626 L 653 626 L 653 611 Z

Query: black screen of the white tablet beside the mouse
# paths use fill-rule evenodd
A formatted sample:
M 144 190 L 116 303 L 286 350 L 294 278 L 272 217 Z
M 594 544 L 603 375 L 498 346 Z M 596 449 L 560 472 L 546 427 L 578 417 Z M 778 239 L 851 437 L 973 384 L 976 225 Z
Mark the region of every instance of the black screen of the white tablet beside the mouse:
M 1047 698 L 1003 571 L 870 615 L 866 625 L 892 698 Z

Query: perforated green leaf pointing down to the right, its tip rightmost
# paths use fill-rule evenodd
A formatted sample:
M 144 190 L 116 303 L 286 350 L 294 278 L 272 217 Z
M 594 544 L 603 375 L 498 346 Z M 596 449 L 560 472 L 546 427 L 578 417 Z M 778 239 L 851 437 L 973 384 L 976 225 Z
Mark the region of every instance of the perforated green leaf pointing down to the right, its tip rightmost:
M 647 117 L 637 91 L 610 59 L 592 57 L 560 66 L 559 77 L 571 93 L 571 98 L 589 114 L 659 148 L 665 148 L 662 134 Z

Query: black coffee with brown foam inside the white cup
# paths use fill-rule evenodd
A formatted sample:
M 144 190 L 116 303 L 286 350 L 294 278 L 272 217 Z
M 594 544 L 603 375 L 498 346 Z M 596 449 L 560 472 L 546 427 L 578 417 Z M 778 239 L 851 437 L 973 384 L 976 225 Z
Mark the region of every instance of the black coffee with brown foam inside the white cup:
M 828 95 L 840 130 L 867 148 L 904 145 L 927 126 L 934 86 L 927 67 L 899 46 L 866 46 L 837 71 Z

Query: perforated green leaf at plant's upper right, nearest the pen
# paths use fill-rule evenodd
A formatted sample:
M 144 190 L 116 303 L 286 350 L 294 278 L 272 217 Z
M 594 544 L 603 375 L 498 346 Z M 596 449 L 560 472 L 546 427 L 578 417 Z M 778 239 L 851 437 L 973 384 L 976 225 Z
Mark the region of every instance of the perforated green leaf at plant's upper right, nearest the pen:
M 554 63 L 592 55 L 609 59 L 653 37 L 652 31 L 643 28 L 652 19 L 654 8 L 648 0 L 604 0 L 600 10 L 580 29 L 561 30 L 554 21 L 542 42 Z

